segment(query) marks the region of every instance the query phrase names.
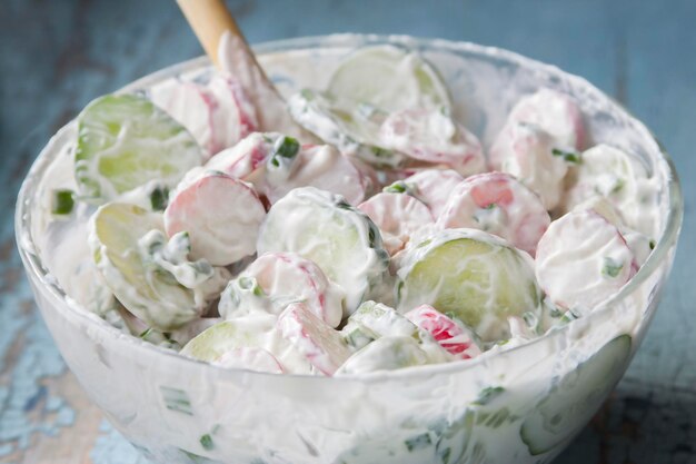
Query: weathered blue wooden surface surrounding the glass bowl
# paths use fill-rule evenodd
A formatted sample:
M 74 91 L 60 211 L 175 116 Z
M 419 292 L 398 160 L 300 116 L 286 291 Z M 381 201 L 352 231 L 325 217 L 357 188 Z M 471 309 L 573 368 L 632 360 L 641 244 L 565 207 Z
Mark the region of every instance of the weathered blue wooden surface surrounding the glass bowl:
M 678 255 L 628 373 L 558 462 L 696 463 L 696 1 L 229 3 L 252 43 L 355 31 L 508 48 L 589 79 L 644 120 L 684 185 Z M 89 100 L 200 53 L 171 0 L 0 3 L 0 463 L 145 463 L 66 368 L 23 276 L 12 216 L 31 161 Z

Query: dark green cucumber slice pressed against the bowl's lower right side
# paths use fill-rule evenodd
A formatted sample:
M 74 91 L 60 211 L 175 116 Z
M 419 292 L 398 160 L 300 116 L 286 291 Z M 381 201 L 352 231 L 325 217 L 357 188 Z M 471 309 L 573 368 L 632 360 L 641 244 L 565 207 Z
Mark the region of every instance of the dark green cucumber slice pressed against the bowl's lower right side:
M 630 344 L 628 335 L 614 338 L 551 387 L 519 432 L 531 455 L 555 450 L 583 430 L 620 378 Z

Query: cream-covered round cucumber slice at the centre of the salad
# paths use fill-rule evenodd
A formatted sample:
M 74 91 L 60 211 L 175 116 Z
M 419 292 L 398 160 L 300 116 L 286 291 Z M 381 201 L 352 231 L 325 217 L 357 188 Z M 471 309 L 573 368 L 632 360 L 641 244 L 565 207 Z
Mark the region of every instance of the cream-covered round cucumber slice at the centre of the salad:
M 380 284 L 389 260 L 377 226 L 365 214 L 314 187 L 296 188 L 270 208 L 257 250 L 294 251 L 315 261 L 345 292 L 346 316 Z

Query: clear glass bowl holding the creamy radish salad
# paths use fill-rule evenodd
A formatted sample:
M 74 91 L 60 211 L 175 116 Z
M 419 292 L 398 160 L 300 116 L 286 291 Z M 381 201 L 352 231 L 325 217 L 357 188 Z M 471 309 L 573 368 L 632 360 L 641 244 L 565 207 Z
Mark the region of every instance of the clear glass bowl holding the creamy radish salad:
M 56 172 L 52 166 L 74 138 L 70 122 L 22 185 L 17 241 L 70 369 L 152 462 L 549 462 L 588 423 L 640 345 L 672 268 L 683 215 L 674 166 L 643 124 L 584 79 L 473 43 L 344 34 L 265 43 L 256 51 L 287 93 L 307 85 L 322 88 L 341 57 L 374 43 L 420 50 L 448 82 L 455 116 L 486 146 L 521 95 L 550 87 L 576 97 L 591 139 L 636 156 L 660 186 L 655 250 L 633 280 L 589 316 L 474 361 L 345 378 L 219 368 L 121 334 L 68 297 L 47 268 L 41 198 L 53 177 L 47 171 Z M 199 58 L 122 91 L 209 73 L 209 61 Z

